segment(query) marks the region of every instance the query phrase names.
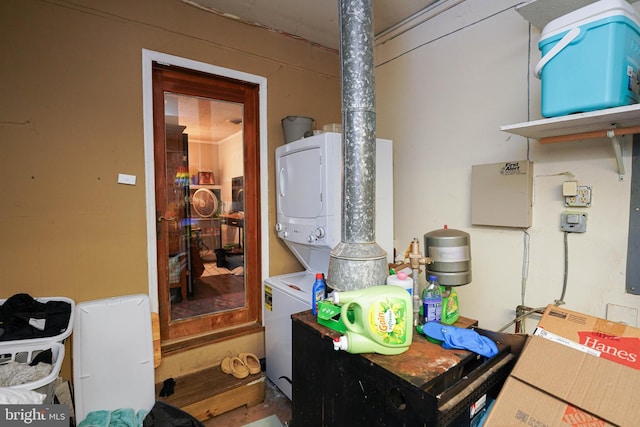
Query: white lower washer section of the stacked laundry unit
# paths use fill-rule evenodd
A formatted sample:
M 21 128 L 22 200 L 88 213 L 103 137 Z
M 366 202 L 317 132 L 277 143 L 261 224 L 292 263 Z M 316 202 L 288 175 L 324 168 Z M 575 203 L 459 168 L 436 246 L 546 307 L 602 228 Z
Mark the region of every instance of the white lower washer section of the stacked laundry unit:
M 264 341 L 267 377 L 291 399 L 291 315 L 311 308 L 314 273 L 284 274 L 264 282 Z

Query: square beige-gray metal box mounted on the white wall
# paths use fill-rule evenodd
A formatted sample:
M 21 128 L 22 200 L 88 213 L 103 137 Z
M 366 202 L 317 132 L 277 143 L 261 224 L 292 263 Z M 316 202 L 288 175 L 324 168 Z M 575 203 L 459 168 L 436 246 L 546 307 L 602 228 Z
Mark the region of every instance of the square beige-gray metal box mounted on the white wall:
M 531 227 L 533 162 L 475 165 L 471 169 L 471 224 Z

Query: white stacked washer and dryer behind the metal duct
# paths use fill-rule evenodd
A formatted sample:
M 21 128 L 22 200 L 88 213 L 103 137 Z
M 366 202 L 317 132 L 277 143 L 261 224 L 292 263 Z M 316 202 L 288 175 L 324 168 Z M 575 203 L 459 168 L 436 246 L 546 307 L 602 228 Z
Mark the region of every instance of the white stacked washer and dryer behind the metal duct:
M 376 242 L 393 261 L 393 151 L 376 140 Z M 311 308 L 316 273 L 341 241 L 342 134 L 325 132 L 276 149 L 276 231 L 304 271 L 265 279 L 267 377 L 291 399 L 291 315 Z

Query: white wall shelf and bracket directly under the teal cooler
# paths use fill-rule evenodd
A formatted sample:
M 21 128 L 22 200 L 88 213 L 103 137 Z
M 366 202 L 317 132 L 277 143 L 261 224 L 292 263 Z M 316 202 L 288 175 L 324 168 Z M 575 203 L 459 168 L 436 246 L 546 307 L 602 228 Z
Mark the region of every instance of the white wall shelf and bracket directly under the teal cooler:
M 610 138 L 622 181 L 625 171 L 619 137 L 640 133 L 640 104 L 505 125 L 500 130 L 537 139 L 541 144 Z

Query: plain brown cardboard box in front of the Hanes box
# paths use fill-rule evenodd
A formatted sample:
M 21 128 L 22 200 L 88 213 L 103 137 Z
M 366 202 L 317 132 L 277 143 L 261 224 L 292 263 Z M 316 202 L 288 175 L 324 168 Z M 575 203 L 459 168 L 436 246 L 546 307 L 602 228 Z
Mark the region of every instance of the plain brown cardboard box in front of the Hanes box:
M 529 338 L 485 426 L 636 426 L 640 371 Z

